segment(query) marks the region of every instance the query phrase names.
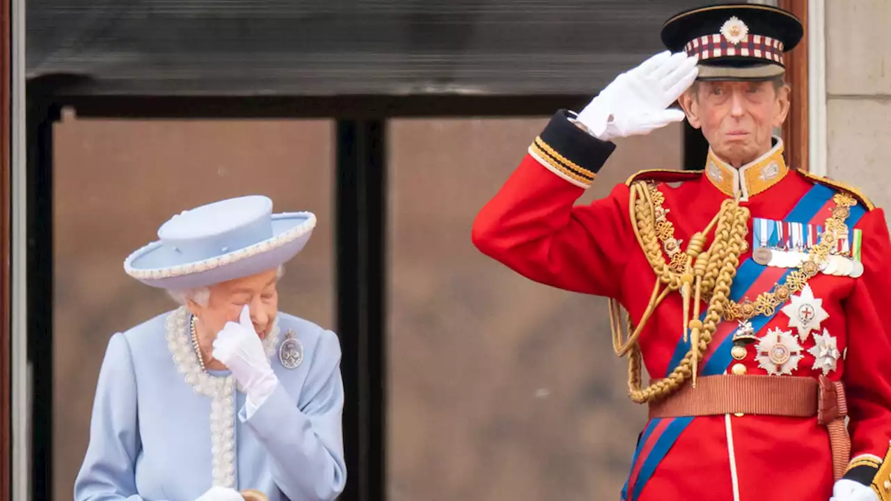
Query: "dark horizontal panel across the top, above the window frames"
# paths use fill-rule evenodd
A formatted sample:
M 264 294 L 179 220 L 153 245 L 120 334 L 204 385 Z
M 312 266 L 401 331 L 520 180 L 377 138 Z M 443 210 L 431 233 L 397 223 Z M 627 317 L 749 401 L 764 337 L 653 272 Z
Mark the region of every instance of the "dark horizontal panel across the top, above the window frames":
M 29 0 L 76 94 L 592 94 L 702 0 Z

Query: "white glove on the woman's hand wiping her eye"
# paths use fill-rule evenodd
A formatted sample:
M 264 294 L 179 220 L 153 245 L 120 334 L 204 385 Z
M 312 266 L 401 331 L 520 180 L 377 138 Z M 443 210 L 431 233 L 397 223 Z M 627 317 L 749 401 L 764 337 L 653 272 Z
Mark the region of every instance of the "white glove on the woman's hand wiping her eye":
M 275 390 L 278 378 L 266 358 L 263 341 L 250 322 L 247 306 L 241 310 L 239 323 L 226 322 L 214 340 L 213 357 L 232 371 L 233 376 L 255 407 L 260 407 Z

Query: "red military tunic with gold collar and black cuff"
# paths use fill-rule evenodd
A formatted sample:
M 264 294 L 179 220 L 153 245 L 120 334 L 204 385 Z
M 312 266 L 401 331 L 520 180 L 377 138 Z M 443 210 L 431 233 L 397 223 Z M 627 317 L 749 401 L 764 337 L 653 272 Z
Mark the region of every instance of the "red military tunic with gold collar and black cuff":
M 473 242 L 486 255 L 536 282 L 614 298 L 637 324 L 650 302 L 655 274 L 631 226 L 629 186 L 617 185 L 609 196 L 591 205 L 574 205 L 615 146 L 589 136 L 569 118 L 567 112 L 559 112 L 535 139 L 519 168 L 478 214 Z M 807 282 L 814 298 L 807 308 L 809 315 L 819 316 L 819 328 L 802 341 L 792 316 L 781 311 L 789 301 L 775 315 L 752 319 L 759 339 L 768 338 L 766 333 L 773 329 L 792 333 L 794 342 L 788 338 L 784 342 L 796 351 L 796 363 L 772 364 L 768 354 L 754 344 L 748 345 L 743 359 L 733 359 L 727 355 L 729 343 L 719 342 L 721 335 L 726 339 L 733 331 L 723 322 L 699 363 L 699 374 L 740 377 L 732 374 L 772 371 L 789 374 L 772 377 L 816 378 L 825 372 L 831 380 L 844 382 L 851 464 L 860 466 L 861 476 L 866 472 L 869 483 L 879 467 L 883 472 L 887 468 L 882 463 L 887 463 L 891 439 L 891 366 L 884 364 L 891 355 L 887 328 L 891 242 L 884 213 L 854 190 L 790 170 L 782 160 L 781 142 L 776 143 L 771 152 L 739 171 L 709 154 L 704 171 L 644 172 L 638 177 L 685 180 L 674 187 L 658 184 L 668 209 L 666 218 L 674 226 L 674 237 L 682 242 L 690 242 L 692 234 L 703 231 L 724 200 L 741 196 L 740 205 L 750 210 L 749 249 L 740 257 L 733 287 L 740 299 L 750 300 L 770 291 L 789 272 L 752 261 L 758 243 L 753 240 L 755 222 L 797 220 L 804 223 L 799 227 L 805 228 L 806 239 L 808 231 L 822 227 L 831 215 L 832 194 L 854 195 L 856 205 L 846 222 L 861 230 L 862 275 L 820 273 Z M 797 300 L 807 302 L 806 298 Z M 686 352 L 689 344 L 680 341 L 682 324 L 682 299 L 673 292 L 658 306 L 639 338 L 648 374 L 670 373 Z M 827 346 L 829 340 L 835 347 Z M 830 439 L 816 418 L 657 418 L 642 431 L 623 498 L 826 500 L 832 484 Z

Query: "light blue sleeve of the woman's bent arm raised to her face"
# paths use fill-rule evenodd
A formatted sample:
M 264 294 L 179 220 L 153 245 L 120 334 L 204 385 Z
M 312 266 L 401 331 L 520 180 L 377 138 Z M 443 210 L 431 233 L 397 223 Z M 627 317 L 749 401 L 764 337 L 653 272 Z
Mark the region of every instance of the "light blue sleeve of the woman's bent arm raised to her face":
M 279 382 L 249 417 L 242 407 L 239 419 L 272 458 L 273 479 L 285 496 L 331 501 L 347 482 L 341 423 L 343 381 L 336 334 L 323 332 L 311 363 L 299 405 Z

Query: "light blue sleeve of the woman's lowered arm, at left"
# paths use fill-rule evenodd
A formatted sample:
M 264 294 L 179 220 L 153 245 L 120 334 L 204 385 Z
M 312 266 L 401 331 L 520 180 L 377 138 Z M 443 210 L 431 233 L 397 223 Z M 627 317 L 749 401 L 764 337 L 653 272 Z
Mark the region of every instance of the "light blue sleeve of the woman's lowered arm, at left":
M 136 494 L 134 472 L 142 447 L 133 357 L 124 334 L 116 333 L 99 371 L 90 441 L 74 481 L 75 501 L 143 501 Z

